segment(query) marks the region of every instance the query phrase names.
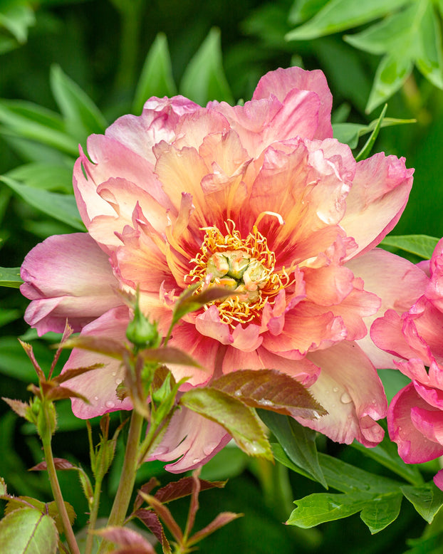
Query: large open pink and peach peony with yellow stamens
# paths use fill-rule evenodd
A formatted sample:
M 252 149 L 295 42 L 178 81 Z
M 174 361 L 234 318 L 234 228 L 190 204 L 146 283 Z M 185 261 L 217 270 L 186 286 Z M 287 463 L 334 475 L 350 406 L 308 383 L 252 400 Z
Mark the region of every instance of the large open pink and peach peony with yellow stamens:
M 368 327 L 380 305 L 396 301 L 401 280 L 413 288 L 423 273 L 374 247 L 405 208 L 412 169 L 383 154 L 356 163 L 332 137 L 331 105 L 319 70 L 278 69 L 244 106 L 151 98 L 139 117 L 89 137 L 91 161 L 80 152 L 74 168 L 88 234 L 50 237 L 28 254 L 28 323 L 59 331 L 68 316 L 84 334 L 123 339 L 130 314 L 115 291 L 139 286 L 142 309 L 165 334 L 187 286 L 225 286 L 237 295 L 174 328 L 170 344 L 205 368 L 172 367 L 189 377 L 184 387 L 276 369 L 329 412 L 303 424 L 335 441 L 377 444 L 387 406 L 371 361 L 383 354 Z M 74 350 L 66 368 L 95 361 Z M 130 409 L 115 396 L 118 362 L 99 372 L 70 381 L 90 399 L 73 399 L 78 417 Z M 182 456 L 168 467 L 183 471 L 228 440 L 183 411 L 156 457 Z

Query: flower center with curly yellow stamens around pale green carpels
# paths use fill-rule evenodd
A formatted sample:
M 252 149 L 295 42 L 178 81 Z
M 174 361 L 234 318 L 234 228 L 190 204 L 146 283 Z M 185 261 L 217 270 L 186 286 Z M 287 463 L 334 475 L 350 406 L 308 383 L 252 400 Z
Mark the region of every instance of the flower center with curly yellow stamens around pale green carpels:
M 225 226 L 226 234 L 217 227 L 202 229 L 203 244 L 191 260 L 194 267 L 187 278 L 202 282 L 197 292 L 217 286 L 235 293 L 209 304 L 217 305 L 222 321 L 234 327 L 258 319 L 264 305 L 290 284 L 290 278 L 284 268 L 275 271 L 276 256 L 255 225 L 246 239 L 241 238 L 234 221 L 229 219 Z

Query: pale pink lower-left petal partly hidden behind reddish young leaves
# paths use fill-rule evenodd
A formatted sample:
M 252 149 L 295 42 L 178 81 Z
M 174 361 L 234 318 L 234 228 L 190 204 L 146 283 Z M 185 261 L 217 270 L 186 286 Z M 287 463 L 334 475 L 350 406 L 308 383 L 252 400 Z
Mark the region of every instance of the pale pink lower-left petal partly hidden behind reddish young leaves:
M 109 310 L 100 318 L 86 325 L 80 336 L 103 337 L 123 342 L 127 323 L 129 323 L 129 310 L 126 306 L 120 306 Z M 125 378 L 125 369 L 120 360 L 98 352 L 74 348 L 62 373 L 75 367 L 88 367 L 95 363 L 105 365 L 65 382 L 66 387 L 83 394 L 90 402 L 90 404 L 86 404 L 79 398 L 71 399 L 73 414 L 81 419 L 90 419 L 107 412 L 132 409 L 129 398 L 125 398 L 122 402 L 115 394 L 118 385 Z

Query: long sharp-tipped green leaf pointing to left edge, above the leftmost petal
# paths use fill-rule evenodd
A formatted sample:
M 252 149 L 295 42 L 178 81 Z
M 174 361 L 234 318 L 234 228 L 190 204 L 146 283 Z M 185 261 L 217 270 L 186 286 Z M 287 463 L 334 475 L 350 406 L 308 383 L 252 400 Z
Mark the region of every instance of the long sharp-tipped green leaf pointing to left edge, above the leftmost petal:
M 34 208 L 43 211 L 43 213 L 48 214 L 54 219 L 71 225 L 74 229 L 85 231 L 85 226 L 78 214 L 77 204 L 75 204 L 73 195 L 34 189 L 6 176 L 0 176 L 0 181 L 11 187 L 14 192 L 19 194 L 25 202 L 31 204 Z

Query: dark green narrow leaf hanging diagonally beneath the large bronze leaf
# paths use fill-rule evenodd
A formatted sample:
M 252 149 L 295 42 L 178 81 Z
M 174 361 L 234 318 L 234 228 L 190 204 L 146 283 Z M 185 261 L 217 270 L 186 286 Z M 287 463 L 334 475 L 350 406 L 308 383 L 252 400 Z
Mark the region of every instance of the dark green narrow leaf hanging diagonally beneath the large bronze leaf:
M 289 459 L 306 471 L 312 479 L 328 488 L 318 464 L 316 432 L 285 415 L 260 410 L 259 416 L 266 427 L 271 429 Z

